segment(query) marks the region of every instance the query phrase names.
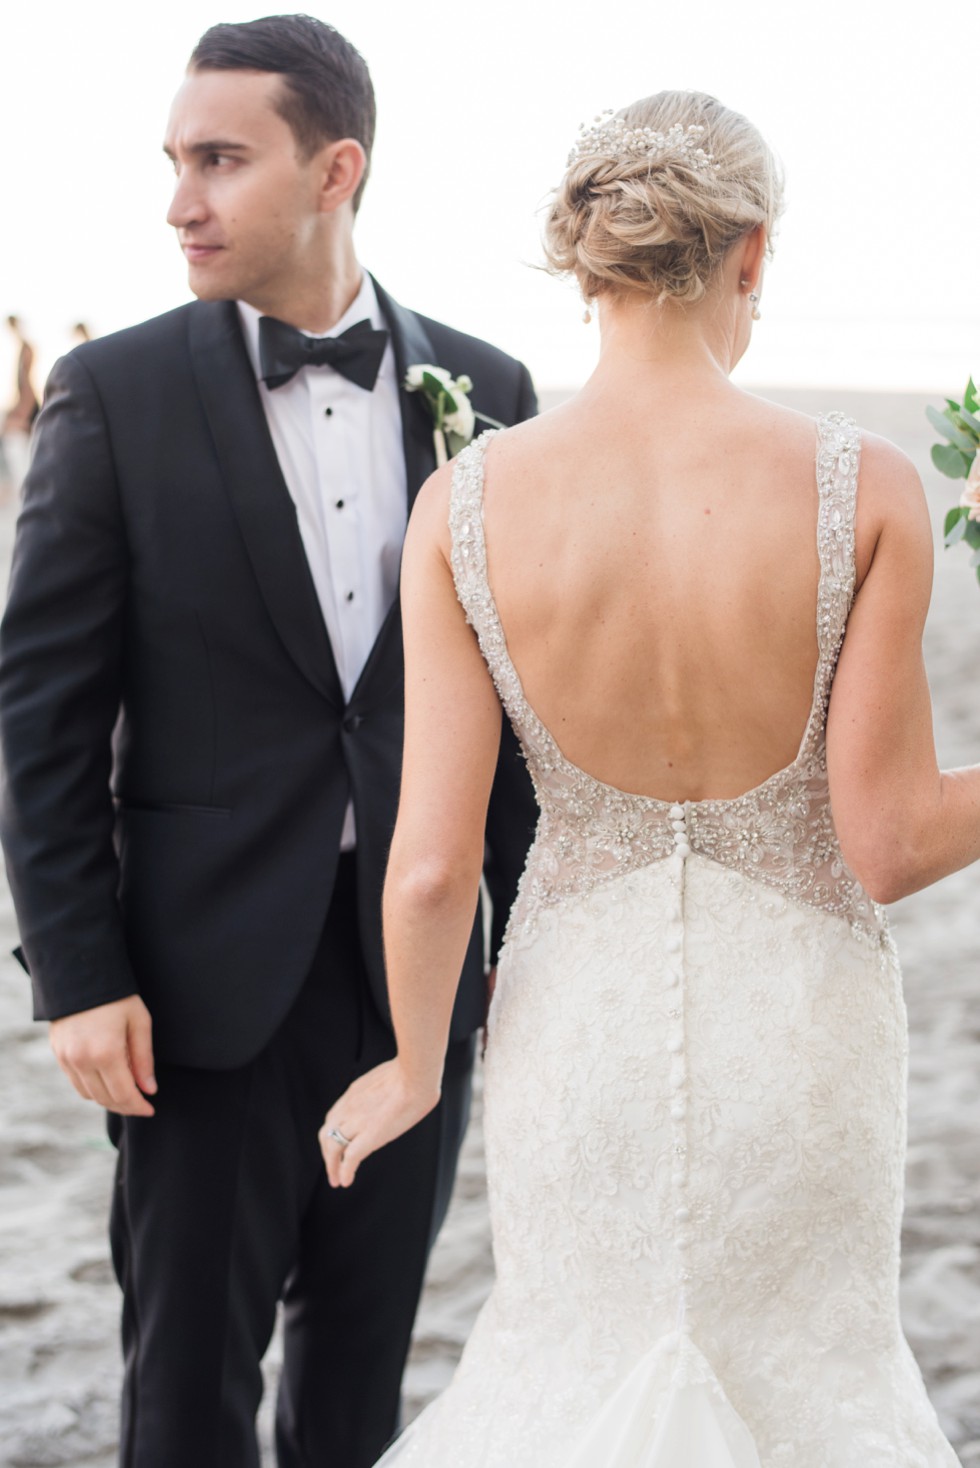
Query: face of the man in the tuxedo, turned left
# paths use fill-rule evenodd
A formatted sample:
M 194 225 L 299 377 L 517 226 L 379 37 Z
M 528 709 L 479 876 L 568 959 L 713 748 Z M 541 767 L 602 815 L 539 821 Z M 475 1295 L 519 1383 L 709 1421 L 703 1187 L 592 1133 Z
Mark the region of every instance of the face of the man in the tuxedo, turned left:
M 191 72 L 167 123 L 176 185 L 167 223 L 205 301 L 276 301 L 314 248 L 323 170 L 274 103 L 271 72 Z

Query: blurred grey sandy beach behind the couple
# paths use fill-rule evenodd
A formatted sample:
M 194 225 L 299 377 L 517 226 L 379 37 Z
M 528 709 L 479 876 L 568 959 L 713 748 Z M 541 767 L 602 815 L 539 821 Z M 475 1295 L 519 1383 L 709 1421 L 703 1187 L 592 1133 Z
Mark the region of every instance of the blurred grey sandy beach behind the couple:
M 967 553 L 942 552 L 939 527 L 958 487 L 930 465 L 924 417 L 939 395 L 764 393 L 804 411 L 839 407 L 899 443 L 926 482 L 937 568 L 926 658 L 940 762 L 980 759 L 980 684 L 973 666 L 980 586 Z M 556 395 L 555 395 L 556 396 Z M 0 506 L 0 568 L 15 512 Z M 959 872 L 892 909 L 911 1029 L 910 1147 L 902 1311 L 945 1431 L 980 1468 L 980 869 Z M 0 890 L 0 951 L 15 945 Z M 29 1017 L 25 976 L 0 959 L 0 1465 L 111 1468 L 117 1430 L 119 1299 L 106 1217 L 113 1152 L 103 1116 L 59 1073 L 45 1028 Z M 433 1255 L 406 1377 L 414 1415 L 452 1374 L 491 1280 L 480 1105 L 452 1211 Z M 266 1362 L 274 1384 L 279 1345 Z M 271 1390 L 261 1414 L 264 1461 Z M 465 1468 L 465 1465 L 461 1465 Z M 515 1465 L 530 1468 L 530 1465 Z M 899 1468 L 899 1465 L 896 1465 Z

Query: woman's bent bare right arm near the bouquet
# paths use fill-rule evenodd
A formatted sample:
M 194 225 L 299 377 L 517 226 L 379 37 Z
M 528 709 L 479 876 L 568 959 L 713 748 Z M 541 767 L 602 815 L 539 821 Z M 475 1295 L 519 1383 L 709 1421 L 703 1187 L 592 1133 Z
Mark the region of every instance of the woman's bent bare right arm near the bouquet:
M 892 903 L 980 859 L 980 765 L 937 765 L 921 650 L 932 526 L 918 474 L 883 440 L 863 451 L 858 517 L 877 540 L 830 694 L 830 804 L 848 866 Z

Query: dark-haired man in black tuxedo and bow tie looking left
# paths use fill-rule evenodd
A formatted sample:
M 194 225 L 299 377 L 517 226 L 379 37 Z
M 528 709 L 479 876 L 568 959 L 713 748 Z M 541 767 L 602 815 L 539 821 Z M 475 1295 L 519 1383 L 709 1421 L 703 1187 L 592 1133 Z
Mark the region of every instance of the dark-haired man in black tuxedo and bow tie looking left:
M 166 137 L 198 301 L 56 367 L 18 528 L 3 843 L 35 1013 L 119 1148 L 123 1468 L 255 1468 L 279 1299 L 280 1468 L 374 1462 L 467 1120 L 478 915 L 440 1105 L 326 1183 L 326 1108 L 393 1050 L 398 567 L 434 467 L 405 373 L 467 373 L 505 423 L 535 407 L 519 363 L 358 264 L 373 135 L 330 26 L 204 35 Z M 533 821 L 508 733 L 494 944 Z

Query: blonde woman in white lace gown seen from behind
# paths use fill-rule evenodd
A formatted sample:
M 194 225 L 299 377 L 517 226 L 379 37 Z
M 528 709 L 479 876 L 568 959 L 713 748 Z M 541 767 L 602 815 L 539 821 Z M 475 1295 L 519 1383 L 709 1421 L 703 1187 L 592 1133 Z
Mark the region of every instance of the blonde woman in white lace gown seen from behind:
M 911 464 L 729 382 L 779 206 L 710 97 L 597 119 L 546 242 L 599 367 L 412 518 L 398 1058 L 332 1107 L 332 1183 L 436 1104 L 502 706 L 541 813 L 489 1022 L 496 1284 L 386 1468 L 957 1462 L 898 1317 L 879 903 L 980 857 L 980 766 L 936 768 Z

